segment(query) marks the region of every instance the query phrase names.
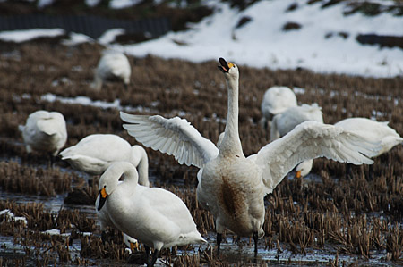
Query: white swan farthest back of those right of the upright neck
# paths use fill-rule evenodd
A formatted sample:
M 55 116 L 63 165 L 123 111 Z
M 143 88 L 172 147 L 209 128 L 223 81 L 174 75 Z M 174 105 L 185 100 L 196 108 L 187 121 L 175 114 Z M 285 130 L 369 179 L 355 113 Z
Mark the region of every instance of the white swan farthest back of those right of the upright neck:
M 287 87 L 271 87 L 263 95 L 261 104 L 261 125 L 267 129 L 268 123 L 274 115 L 287 110 L 288 107 L 296 106 L 296 94 Z

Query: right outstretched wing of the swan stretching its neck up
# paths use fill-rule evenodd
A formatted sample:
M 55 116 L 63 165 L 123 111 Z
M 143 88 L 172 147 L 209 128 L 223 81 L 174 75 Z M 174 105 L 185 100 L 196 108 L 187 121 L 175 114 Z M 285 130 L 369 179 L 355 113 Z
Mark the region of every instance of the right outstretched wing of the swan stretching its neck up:
M 338 162 L 372 164 L 368 157 L 377 154 L 380 149 L 379 143 L 340 127 L 305 121 L 249 158 L 262 168 L 263 183 L 268 188 L 267 193 L 271 193 L 302 161 L 324 156 Z

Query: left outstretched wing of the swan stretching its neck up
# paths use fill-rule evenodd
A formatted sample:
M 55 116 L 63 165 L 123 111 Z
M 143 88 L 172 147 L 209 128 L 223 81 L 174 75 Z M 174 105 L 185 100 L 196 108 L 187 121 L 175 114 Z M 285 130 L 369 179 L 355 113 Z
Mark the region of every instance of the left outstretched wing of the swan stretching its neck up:
M 172 154 L 176 161 L 201 168 L 219 154 L 219 149 L 201 134 L 190 122 L 175 117 L 130 115 L 120 113 L 124 129 L 144 146 Z

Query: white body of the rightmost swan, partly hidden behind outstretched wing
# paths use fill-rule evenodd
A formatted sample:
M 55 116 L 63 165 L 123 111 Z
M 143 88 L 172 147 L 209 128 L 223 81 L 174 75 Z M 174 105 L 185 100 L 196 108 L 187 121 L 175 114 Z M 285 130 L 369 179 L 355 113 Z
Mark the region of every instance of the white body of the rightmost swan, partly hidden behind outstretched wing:
M 390 151 L 393 146 L 403 143 L 403 138 L 395 129 L 390 128 L 388 123 L 388 121 L 373 121 L 366 118 L 349 118 L 337 122 L 335 126 L 355 132 L 373 142 L 381 142 L 382 149 L 374 155 L 378 156 Z

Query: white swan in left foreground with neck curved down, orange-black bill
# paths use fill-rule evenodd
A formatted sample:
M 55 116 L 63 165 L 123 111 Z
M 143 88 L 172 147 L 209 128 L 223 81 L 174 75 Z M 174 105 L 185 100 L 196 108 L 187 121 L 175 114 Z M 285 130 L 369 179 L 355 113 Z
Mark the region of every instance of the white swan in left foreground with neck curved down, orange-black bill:
M 124 180 L 119 183 L 122 174 Z M 150 266 L 162 248 L 206 242 L 178 196 L 161 188 L 143 187 L 137 182 L 137 171 L 132 164 L 113 163 L 99 179 L 97 209 L 101 211 L 105 204 L 116 229 L 154 248 Z

